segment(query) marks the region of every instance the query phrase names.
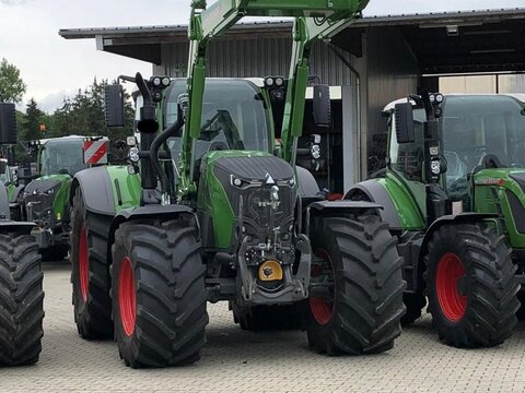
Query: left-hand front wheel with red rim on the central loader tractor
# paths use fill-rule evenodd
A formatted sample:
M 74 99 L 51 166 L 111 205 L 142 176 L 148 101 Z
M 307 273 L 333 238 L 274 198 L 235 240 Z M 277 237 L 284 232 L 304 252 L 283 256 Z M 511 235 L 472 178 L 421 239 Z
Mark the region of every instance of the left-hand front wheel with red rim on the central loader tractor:
M 195 228 L 182 219 L 125 223 L 115 234 L 113 261 L 115 337 L 126 366 L 197 361 L 209 319 Z

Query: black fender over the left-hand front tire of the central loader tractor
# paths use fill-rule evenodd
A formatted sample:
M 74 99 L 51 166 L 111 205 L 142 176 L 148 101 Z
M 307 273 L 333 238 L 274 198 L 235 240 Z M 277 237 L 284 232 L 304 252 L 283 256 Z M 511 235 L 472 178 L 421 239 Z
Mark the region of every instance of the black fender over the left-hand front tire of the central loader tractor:
M 131 222 L 131 221 L 138 221 L 138 219 L 159 219 L 159 221 L 167 221 L 167 219 L 173 219 L 180 217 L 182 215 L 185 215 L 189 218 L 189 222 L 194 222 L 192 224 L 197 227 L 197 236 L 200 238 L 200 228 L 199 228 L 199 221 L 197 219 L 197 216 L 195 212 L 191 210 L 191 207 L 186 206 L 186 205 L 178 205 L 178 204 L 172 204 L 172 205 L 156 205 L 156 204 L 151 204 L 151 205 L 145 205 L 145 206 L 140 206 L 140 207 L 133 207 L 133 209 L 126 209 L 119 212 L 112 222 L 112 226 L 109 229 L 109 241 L 107 242 L 108 245 L 113 245 L 115 241 L 115 231 L 118 229 L 120 224 Z M 110 250 L 108 251 L 110 252 Z

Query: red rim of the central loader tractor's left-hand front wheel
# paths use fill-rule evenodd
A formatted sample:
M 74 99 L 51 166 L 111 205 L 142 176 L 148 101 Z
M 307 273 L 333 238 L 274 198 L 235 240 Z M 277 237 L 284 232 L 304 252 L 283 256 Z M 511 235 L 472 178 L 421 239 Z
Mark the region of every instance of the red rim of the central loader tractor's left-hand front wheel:
M 133 267 L 131 260 L 125 257 L 118 273 L 118 308 L 120 309 L 124 333 L 127 336 L 131 336 L 135 332 L 137 318 L 136 296 Z

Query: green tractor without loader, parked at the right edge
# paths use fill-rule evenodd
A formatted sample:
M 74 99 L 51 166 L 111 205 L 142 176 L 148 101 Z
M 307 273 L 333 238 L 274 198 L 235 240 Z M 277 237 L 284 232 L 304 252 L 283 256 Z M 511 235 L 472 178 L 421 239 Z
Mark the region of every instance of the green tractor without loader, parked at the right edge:
M 510 95 L 411 95 L 388 105 L 388 164 L 347 199 L 381 203 L 399 239 L 404 323 L 427 305 L 455 347 L 503 343 L 525 278 L 525 108 Z

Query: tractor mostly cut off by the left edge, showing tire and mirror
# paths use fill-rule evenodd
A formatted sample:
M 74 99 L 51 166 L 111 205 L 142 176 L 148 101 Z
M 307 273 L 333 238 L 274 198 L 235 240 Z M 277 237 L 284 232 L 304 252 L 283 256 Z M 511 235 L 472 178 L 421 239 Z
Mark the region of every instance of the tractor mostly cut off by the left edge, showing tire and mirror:
M 0 103 L 0 144 L 15 143 L 14 104 Z M 42 350 L 43 274 L 33 227 L 10 219 L 8 192 L 0 182 L 0 367 L 35 364 Z

